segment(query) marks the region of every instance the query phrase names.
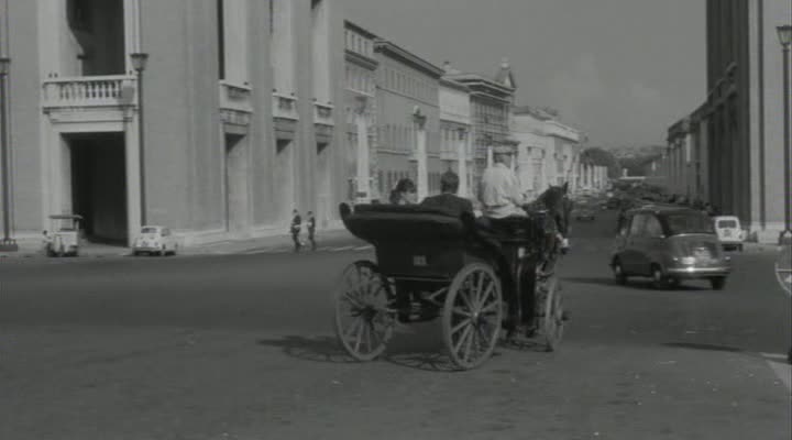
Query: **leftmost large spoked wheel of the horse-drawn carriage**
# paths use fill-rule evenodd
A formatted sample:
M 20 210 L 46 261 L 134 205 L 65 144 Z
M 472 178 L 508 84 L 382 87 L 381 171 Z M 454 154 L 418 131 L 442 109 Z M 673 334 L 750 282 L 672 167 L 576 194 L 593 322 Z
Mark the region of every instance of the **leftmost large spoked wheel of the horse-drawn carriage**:
M 336 336 L 355 360 L 373 361 L 385 351 L 396 324 L 391 297 L 376 264 L 358 261 L 343 271 L 336 288 Z

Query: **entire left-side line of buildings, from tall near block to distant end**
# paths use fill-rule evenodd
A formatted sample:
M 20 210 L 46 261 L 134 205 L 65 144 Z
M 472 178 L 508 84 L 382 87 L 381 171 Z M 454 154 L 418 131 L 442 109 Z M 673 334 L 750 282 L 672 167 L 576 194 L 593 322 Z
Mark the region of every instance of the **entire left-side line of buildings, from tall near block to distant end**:
M 332 0 L 0 0 L 7 116 L 3 229 L 36 239 L 79 213 L 129 243 L 167 224 L 184 244 L 284 233 L 293 209 L 338 226 L 341 201 L 419 196 L 514 146 L 528 194 L 604 186 L 581 133 L 515 106 L 493 77 L 437 66 L 345 21 Z

